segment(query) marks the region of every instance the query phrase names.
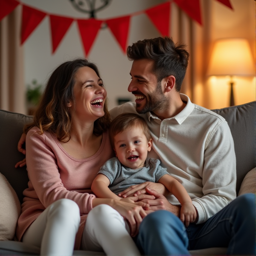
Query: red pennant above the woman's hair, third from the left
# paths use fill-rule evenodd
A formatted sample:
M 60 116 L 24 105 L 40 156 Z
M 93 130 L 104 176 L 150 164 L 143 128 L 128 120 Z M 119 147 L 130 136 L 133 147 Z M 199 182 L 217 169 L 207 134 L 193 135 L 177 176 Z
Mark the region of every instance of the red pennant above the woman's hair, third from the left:
M 72 22 L 72 18 L 50 15 L 52 32 L 52 53 L 55 52 L 56 48 L 58 47 L 59 43 L 66 34 Z

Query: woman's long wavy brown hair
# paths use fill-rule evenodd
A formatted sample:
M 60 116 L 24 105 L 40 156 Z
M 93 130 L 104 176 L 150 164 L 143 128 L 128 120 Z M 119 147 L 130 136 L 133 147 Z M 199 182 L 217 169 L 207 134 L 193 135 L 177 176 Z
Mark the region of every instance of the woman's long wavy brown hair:
M 70 113 L 67 105 L 70 101 L 75 102 L 73 94 L 75 75 L 81 67 L 90 67 L 100 77 L 97 66 L 87 59 L 79 58 L 58 66 L 47 82 L 33 122 L 24 126 L 25 134 L 32 127 L 37 126 L 41 130 L 41 134 L 44 131 L 49 131 L 55 134 L 59 141 L 68 142 L 70 140 L 73 113 Z M 110 114 L 106 101 L 104 113 L 104 116 L 94 122 L 93 133 L 97 136 L 106 131 L 110 125 Z

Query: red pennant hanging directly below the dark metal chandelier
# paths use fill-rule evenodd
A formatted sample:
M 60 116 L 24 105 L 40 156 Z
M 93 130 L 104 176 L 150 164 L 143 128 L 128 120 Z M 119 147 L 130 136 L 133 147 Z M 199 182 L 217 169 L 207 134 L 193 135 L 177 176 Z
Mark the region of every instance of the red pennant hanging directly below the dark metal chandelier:
M 80 35 L 84 45 L 85 56 L 88 56 L 91 46 L 101 28 L 102 20 L 77 20 Z

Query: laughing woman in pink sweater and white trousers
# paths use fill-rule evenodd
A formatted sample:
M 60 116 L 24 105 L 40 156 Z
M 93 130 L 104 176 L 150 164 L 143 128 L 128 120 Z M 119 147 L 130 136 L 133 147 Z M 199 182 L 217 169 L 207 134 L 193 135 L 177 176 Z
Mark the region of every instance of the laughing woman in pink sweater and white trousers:
M 154 197 L 116 201 L 96 198 L 90 190 L 113 156 L 106 96 L 93 63 L 64 62 L 50 76 L 34 122 L 24 128 L 29 187 L 16 235 L 41 247 L 42 255 L 72 255 L 74 244 L 76 250 L 103 248 L 108 255 L 139 254 L 123 218 L 136 235 L 148 207 L 137 201 Z

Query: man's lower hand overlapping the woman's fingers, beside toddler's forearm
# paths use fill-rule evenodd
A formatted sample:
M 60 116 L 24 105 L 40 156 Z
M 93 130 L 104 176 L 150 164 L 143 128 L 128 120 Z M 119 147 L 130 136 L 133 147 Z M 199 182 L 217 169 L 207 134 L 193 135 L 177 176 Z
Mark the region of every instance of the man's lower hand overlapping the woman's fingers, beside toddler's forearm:
M 169 201 L 160 193 L 155 190 L 145 188 L 146 193 L 149 195 L 153 195 L 155 200 L 143 199 L 141 200 L 143 203 L 149 204 L 148 211 L 156 211 L 156 210 L 168 210 L 172 212 L 174 215 L 180 218 L 180 208 L 181 206 L 172 205 Z

